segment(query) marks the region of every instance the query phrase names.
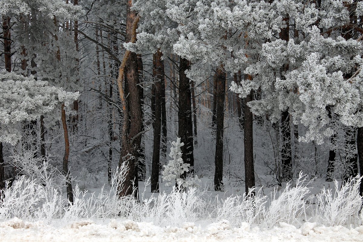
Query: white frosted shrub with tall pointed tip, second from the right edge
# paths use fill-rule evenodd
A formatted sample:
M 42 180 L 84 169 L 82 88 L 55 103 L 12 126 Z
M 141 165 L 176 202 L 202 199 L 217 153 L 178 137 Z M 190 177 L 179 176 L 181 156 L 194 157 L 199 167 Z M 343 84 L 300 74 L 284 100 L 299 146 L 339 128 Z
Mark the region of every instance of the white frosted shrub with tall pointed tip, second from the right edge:
M 264 223 L 268 228 L 273 227 L 278 222 L 300 223 L 300 218 L 306 219 L 306 201 L 304 197 L 310 189 L 303 183 L 306 181 L 306 175 L 299 174 L 296 186 L 291 187 L 287 182 L 284 192 L 277 197 L 277 191 L 271 196 L 269 207 L 264 210 Z

